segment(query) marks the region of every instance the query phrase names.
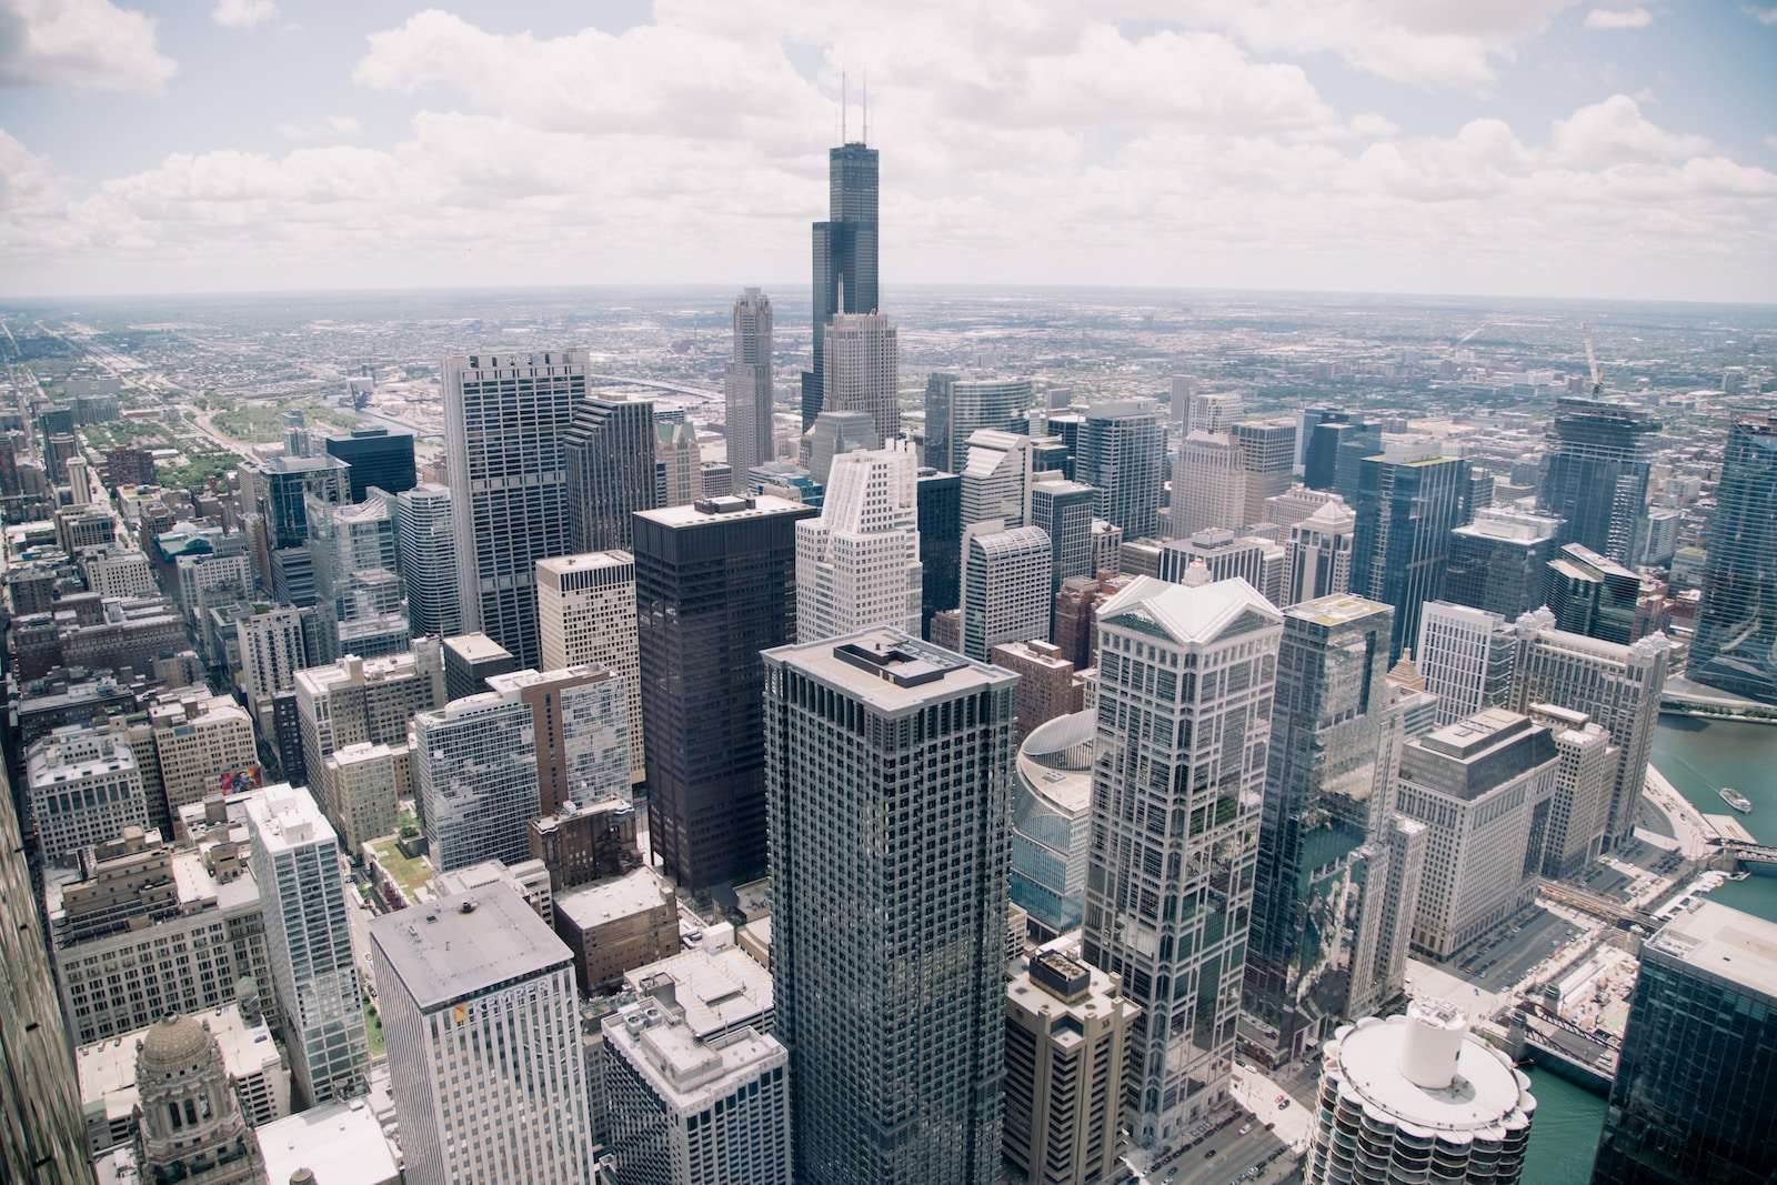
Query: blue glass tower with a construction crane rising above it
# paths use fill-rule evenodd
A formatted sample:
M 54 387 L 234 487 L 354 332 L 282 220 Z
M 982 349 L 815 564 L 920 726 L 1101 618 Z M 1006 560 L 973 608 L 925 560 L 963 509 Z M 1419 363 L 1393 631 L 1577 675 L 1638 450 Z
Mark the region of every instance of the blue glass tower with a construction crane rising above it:
M 1537 513 L 1562 519 L 1562 544 L 1628 563 L 1647 513 L 1647 476 L 1660 421 L 1622 403 L 1564 398 L 1550 423 Z

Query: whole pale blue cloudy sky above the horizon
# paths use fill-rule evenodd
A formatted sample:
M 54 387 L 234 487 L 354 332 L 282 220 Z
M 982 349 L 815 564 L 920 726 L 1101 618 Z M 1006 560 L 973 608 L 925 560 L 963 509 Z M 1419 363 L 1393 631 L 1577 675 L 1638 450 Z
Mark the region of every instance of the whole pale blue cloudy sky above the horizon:
M 0 0 L 0 295 L 894 282 L 1777 300 L 1777 0 Z

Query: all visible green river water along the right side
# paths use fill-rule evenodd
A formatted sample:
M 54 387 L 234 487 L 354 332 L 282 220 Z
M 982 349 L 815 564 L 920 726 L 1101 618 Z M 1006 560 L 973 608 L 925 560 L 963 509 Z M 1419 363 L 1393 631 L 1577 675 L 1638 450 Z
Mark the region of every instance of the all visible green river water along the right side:
M 1734 815 L 1759 842 L 1777 844 L 1777 727 L 1661 716 L 1653 764 L 1704 814 Z M 1752 814 L 1733 812 L 1718 794 L 1724 785 L 1750 798 Z M 1777 922 L 1777 876 L 1729 881 L 1709 901 Z M 1525 1155 L 1525 1185 L 1587 1185 L 1605 1100 L 1544 1070 L 1530 1071 L 1530 1093 L 1537 1117 Z

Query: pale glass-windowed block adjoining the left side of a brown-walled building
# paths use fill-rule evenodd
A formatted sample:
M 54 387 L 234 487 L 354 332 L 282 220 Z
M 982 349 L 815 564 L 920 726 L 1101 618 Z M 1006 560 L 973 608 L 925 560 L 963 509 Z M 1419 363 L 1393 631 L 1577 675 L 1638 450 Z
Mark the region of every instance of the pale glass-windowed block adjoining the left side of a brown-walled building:
M 526 858 L 540 814 L 533 727 L 531 705 L 499 691 L 414 714 L 414 807 L 441 872 Z

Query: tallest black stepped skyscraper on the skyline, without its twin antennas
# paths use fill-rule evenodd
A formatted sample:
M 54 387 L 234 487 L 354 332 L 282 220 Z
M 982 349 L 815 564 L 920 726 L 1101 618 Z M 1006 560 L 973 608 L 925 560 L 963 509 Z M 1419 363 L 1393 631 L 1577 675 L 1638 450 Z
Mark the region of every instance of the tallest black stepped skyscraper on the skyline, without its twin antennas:
M 826 222 L 814 224 L 814 370 L 801 371 L 801 428 L 821 414 L 826 327 L 835 313 L 876 313 L 876 149 L 828 155 Z

